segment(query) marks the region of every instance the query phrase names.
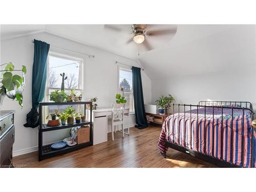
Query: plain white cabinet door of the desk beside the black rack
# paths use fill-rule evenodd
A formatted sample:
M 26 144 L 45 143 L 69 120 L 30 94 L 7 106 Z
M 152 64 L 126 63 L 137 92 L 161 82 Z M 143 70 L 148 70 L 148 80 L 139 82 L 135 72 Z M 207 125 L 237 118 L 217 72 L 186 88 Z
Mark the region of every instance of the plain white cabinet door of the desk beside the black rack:
M 95 117 L 93 122 L 93 144 L 107 141 L 106 116 Z

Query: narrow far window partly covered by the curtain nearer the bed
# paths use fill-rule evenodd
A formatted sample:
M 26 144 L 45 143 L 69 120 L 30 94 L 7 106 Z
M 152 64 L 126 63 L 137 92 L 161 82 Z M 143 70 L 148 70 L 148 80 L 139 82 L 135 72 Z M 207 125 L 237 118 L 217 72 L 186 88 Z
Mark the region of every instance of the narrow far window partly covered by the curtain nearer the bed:
M 127 102 L 125 108 L 130 108 L 130 113 L 134 113 L 134 99 L 133 99 L 133 78 L 132 70 L 119 67 L 119 82 L 118 89 L 123 88 L 123 95 Z

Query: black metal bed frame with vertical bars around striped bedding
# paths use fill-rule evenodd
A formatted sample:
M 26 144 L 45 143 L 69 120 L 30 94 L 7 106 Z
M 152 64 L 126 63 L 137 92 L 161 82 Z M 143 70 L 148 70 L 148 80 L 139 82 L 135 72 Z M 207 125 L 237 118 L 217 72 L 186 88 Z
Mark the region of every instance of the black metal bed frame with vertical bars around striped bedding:
M 226 105 L 233 105 L 234 106 L 226 106 Z M 240 107 L 236 106 L 236 104 L 240 104 Z M 172 106 L 172 110 L 169 110 L 170 109 L 170 106 Z M 206 107 L 208 108 L 212 108 L 212 123 L 214 125 L 214 109 L 215 108 L 221 108 L 221 158 L 218 159 L 216 157 L 214 157 L 214 134 L 212 134 L 212 156 L 209 156 L 209 155 L 206 155 L 206 140 L 204 139 L 204 153 L 205 154 L 202 154 L 200 152 L 197 152 L 198 149 L 199 149 L 199 142 L 197 144 L 197 151 L 194 151 L 194 150 L 190 150 L 190 148 L 187 148 L 186 146 L 181 146 L 179 144 L 176 144 L 176 143 L 172 143 L 168 140 L 166 140 L 166 135 L 164 136 L 164 147 L 170 147 L 170 148 L 173 148 L 174 150 L 177 150 L 177 151 L 180 151 L 180 152 L 183 152 L 185 154 L 188 154 L 190 156 L 193 156 L 193 157 L 196 157 L 198 159 L 201 159 L 203 161 L 206 161 L 206 162 L 209 162 L 211 164 L 215 164 L 219 167 L 239 167 L 238 165 L 236 164 L 232 164 L 230 162 L 227 162 L 227 161 L 224 161 L 224 160 L 221 160 L 222 157 L 223 157 L 223 109 L 231 109 L 231 113 L 232 113 L 232 119 L 231 119 L 231 138 L 230 138 L 230 143 L 232 143 L 232 139 L 233 139 L 233 110 L 234 109 L 242 109 L 243 110 L 243 121 L 242 121 L 242 131 L 244 130 L 244 111 L 245 110 L 249 110 L 251 112 L 251 120 L 253 120 L 253 116 L 254 116 L 254 112 L 253 112 L 253 109 L 252 109 L 252 104 L 250 102 L 247 102 L 247 101 L 200 101 L 198 103 L 198 105 L 192 105 L 192 104 L 166 104 L 165 107 L 164 107 L 164 123 L 165 123 L 165 130 L 164 130 L 164 134 L 166 134 L 166 121 L 165 119 L 169 116 L 169 115 L 173 115 L 173 118 L 174 118 L 174 114 L 175 114 L 175 107 L 178 108 L 178 121 L 180 121 L 180 113 L 184 113 L 184 127 L 185 127 L 185 113 L 186 113 L 186 108 L 189 108 L 190 109 L 190 126 L 192 125 L 191 123 L 191 110 L 192 108 L 194 109 L 197 109 L 197 122 L 198 122 L 198 109 L 199 108 L 204 108 L 204 119 L 206 120 Z M 180 112 L 180 108 L 183 107 L 184 108 L 184 112 Z M 168 111 L 168 113 L 167 113 Z M 173 113 L 170 114 L 169 111 L 172 111 Z M 189 113 L 189 112 L 187 112 Z M 204 127 L 206 126 L 206 122 L 204 120 Z M 179 127 L 178 127 L 178 135 L 180 133 L 180 123 L 179 124 Z M 225 125 L 224 125 L 225 126 Z M 199 124 L 197 123 L 197 130 L 199 127 Z M 213 126 L 214 127 L 214 126 Z M 186 137 L 186 129 L 184 129 L 184 138 Z M 192 131 L 192 129 L 190 129 L 190 132 Z M 251 158 L 251 165 L 252 167 L 254 167 L 254 164 L 253 164 L 253 153 L 254 153 L 254 150 L 253 150 L 253 134 L 254 134 L 254 128 L 252 127 L 252 137 L 251 137 L 251 154 L 252 154 L 252 158 Z M 173 120 L 173 132 L 174 132 L 174 120 Z M 174 138 L 174 134 L 172 135 L 169 135 L 169 137 L 173 136 Z M 190 136 L 191 136 L 191 133 L 190 133 Z M 197 138 L 199 138 L 199 131 L 197 132 Z M 206 138 L 206 132 L 204 132 L 204 138 Z M 173 139 L 174 141 L 174 139 Z M 190 146 L 191 146 L 191 139 L 190 139 Z M 233 151 L 233 146 L 232 144 L 230 145 L 231 146 L 231 152 Z M 243 149 L 243 137 L 242 137 L 242 149 Z M 243 157 L 243 150 L 242 150 L 242 157 Z M 164 150 L 164 158 L 166 158 L 166 150 Z M 230 159 L 232 159 L 232 153 L 230 153 Z M 242 164 L 243 164 L 243 158 L 242 158 Z

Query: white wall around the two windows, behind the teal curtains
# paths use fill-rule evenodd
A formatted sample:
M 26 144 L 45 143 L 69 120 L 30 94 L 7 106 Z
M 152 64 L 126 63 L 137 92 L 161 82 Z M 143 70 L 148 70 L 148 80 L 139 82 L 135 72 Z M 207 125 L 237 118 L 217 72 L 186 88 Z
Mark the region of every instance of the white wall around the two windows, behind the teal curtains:
M 115 94 L 117 93 L 117 65 L 116 61 L 127 65 L 139 67 L 135 60 L 122 57 L 110 52 L 99 50 L 90 46 L 82 45 L 77 42 L 67 40 L 48 33 L 39 33 L 25 37 L 19 37 L 10 40 L 1 41 L 1 63 L 12 61 L 15 68 L 19 69 L 22 65 L 27 66 L 26 74 L 26 89 L 24 92 L 24 107 L 23 109 L 17 104 L 5 98 L 2 110 L 16 110 L 15 113 L 15 143 L 14 156 L 37 150 L 37 128 L 27 128 L 23 124 L 26 123 L 26 114 L 32 108 L 31 100 L 31 79 L 34 44 L 31 40 L 38 39 L 48 42 L 50 45 L 77 51 L 80 53 L 95 55 L 95 58 L 84 58 L 84 94 L 86 99 L 98 97 L 99 107 L 110 107 L 111 103 L 115 102 Z M 58 49 L 50 48 L 50 51 L 65 53 Z M 70 54 L 70 52 L 66 52 Z M 74 54 L 72 54 L 74 56 Z M 83 57 L 77 54 L 77 57 Z M 151 80 L 142 71 L 142 82 L 144 92 L 144 102 L 151 102 Z M 135 122 L 134 115 L 131 115 L 131 123 Z M 66 131 L 54 131 L 46 133 L 44 136 L 45 143 L 56 140 L 61 140 L 67 135 Z

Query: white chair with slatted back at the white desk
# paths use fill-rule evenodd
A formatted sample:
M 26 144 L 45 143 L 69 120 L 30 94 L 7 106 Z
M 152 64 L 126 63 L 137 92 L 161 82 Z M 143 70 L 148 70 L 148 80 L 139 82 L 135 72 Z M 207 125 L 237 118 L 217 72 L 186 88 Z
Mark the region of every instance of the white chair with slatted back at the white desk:
M 124 137 L 124 128 L 123 128 L 123 118 L 124 118 L 124 106 L 125 104 L 119 104 L 119 103 L 115 103 L 112 104 L 112 126 L 111 126 L 111 131 L 112 131 L 112 140 L 114 141 L 114 129 L 115 129 L 115 133 L 116 133 L 116 126 L 119 127 L 119 125 L 122 125 L 122 134 Z M 128 127 L 129 129 L 129 127 Z M 119 129 L 117 128 L 117 130 L 119 131 Z M 127 134 L 129 135 L 129 134 Z

